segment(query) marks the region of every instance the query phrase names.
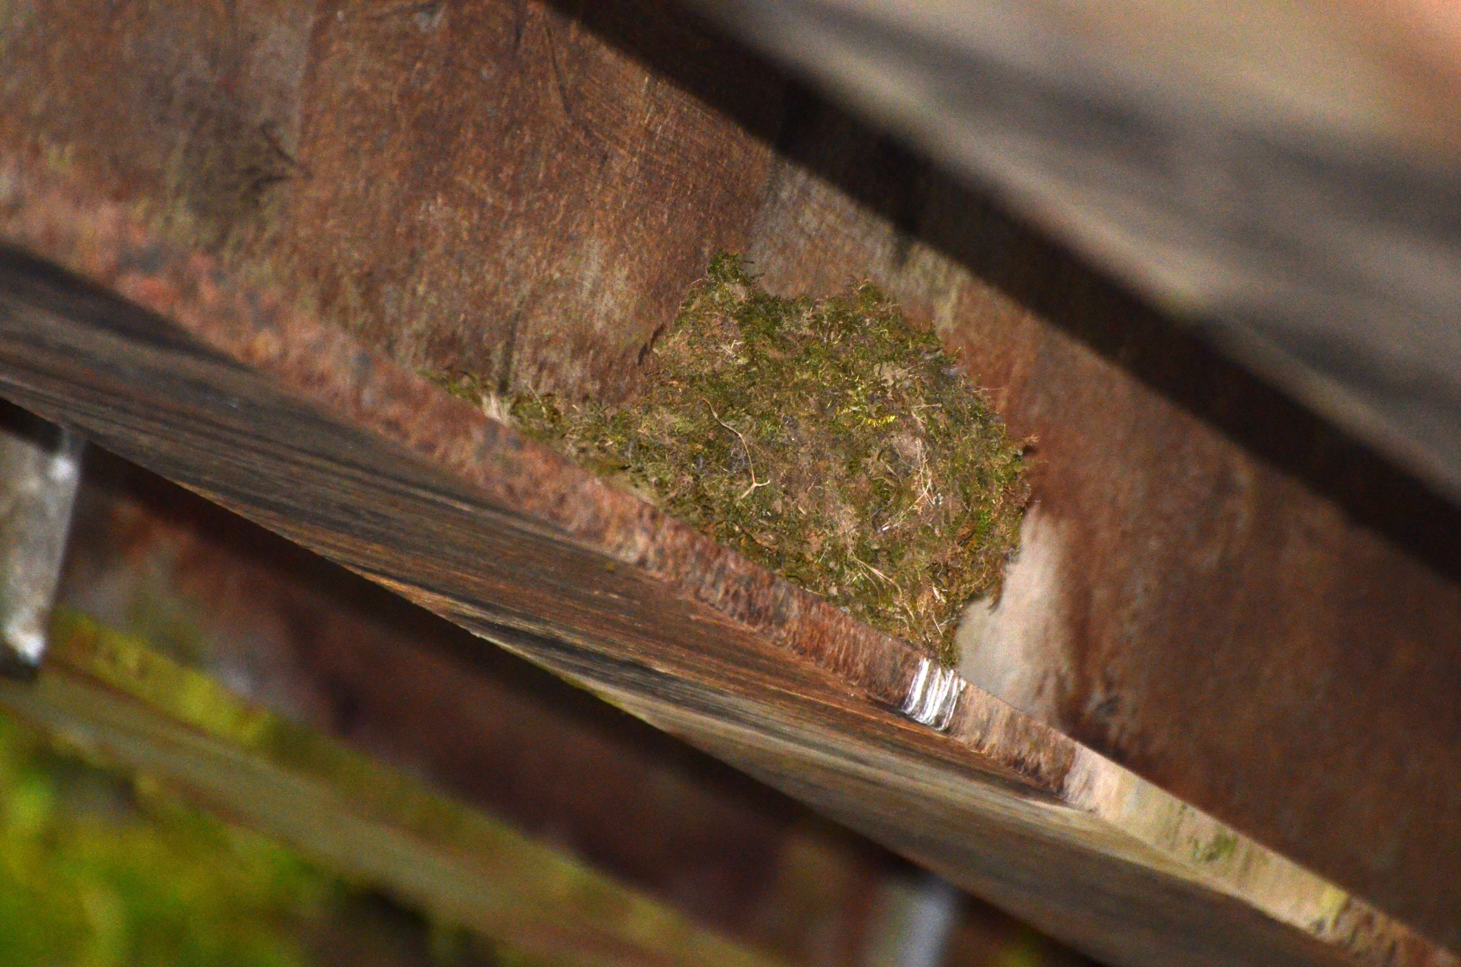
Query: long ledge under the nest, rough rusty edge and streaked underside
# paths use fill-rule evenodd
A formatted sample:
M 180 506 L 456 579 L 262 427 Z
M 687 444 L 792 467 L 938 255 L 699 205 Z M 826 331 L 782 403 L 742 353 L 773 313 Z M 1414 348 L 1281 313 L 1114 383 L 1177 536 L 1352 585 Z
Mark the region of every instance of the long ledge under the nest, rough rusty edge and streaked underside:
M 1113 964 L 1455 964 L 1398 922 L 339 330 L 19 165 L 0 387 Z M 131 299 L 131 305 L 111 294 Z

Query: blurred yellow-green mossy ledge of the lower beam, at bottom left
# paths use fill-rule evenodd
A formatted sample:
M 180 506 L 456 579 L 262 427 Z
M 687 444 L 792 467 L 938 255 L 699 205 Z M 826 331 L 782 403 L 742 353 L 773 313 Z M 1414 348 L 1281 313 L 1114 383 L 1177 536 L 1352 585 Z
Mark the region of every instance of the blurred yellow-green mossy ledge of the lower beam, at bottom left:
M 0 707 L 519 952 L 602 967 L 780 961 L 60 609 Z

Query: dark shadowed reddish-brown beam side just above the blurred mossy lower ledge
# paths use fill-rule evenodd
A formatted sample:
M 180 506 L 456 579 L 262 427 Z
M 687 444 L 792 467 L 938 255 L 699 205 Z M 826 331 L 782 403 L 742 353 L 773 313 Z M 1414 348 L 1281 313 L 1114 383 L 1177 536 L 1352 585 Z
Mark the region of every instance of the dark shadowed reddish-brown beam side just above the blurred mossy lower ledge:
M 918 882 L 805 806 L 101 450 L 60 600 L 795 964 L 884 963 L 871 932 Z M 1087 963 L 969 897 L 953 938 L 948 967 Z

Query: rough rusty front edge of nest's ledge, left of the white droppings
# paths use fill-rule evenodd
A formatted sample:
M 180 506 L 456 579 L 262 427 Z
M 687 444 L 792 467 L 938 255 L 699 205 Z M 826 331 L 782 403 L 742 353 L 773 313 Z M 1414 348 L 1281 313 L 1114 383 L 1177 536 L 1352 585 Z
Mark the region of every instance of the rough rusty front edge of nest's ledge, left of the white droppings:
M 67 305 L 67 314 L 104 323 L 104 329 L 121 326 L 115 330 L 118 333 L 149 332 L 143 345 L 156 343 L 171 355 L 180 364 L 178 378 L 194 386 L 199 381 L 222 381 L 210 393 L 222 394 L 222 399 L 232 397 L 235 402 L 231 405 L 231 418 L 241 422 L 226 428 L 199 425 L 196 429 L 200 437 L 186 446 L 203 446 L 203 437 L 218 431 L 244 434 L 237 441 L 243 443 L 254 432 L 250 418 L 262 418 L 275 408 L 288 412 L 298 406 L 294 394 L 300 393 L 301 402 L 307 402 L 297 415 L 301 429 L 307 428 L 305 432 L 311 435 L 301 437 L 297 443 L 304 447 L 301 453 L 308 453 L 316 446 L 323 447 L 320 456 L 329 453 L 329 457 L 324 457 L 326 463 L 321 466 L 327 466 L 330 460 L 352 463 L 362 459 L 358 453 L 374 456 L 367 447 L 383 447 L 383 454 L 389 454 L 383 459 L 390 460 L 380 467 L 383 479 L 393 481 L 400 475 L 399 485 L 409 488 L 413 497 L 431 494 L 431 500 L 457 501 L 459 513 L 468 513 L 468 508 L 475 508 L 485 500 L 487 507 L 522 517 L 524 523 L 519 526 L 546 527 L 545 538 L 560 545 L 554 554 L 571 561 L 565 573 L 587 568 L 595 574 L 595 581 L 586 589 L 561 597 L 552 597 L 552 593 L 564 578 L 548 580 L 535 592 L 535 609 L 565 615 L 583 606 L 576 599 L 606 595 L 612 602 L 622 602 L 622 611 L 612 616 L 603 615 L 619 625 L 617 630 L 600 631 L 633 638 L 643 635 L 647 627 L 668 628 L 679 622 L 688 638 L 694 640 L 703 634 L 695 622 L 709 621 L 713 627 L 717 625 L 717 632 L 751 632 L 760 643 L 760 650 L 771 646 L 773 651 L 768 654 L 786 649 L 811 659 L 823 676 L 856 681 L 858 687 L 853 689 L 836 687 L 837 691 L 846 689 L 849 698 L 872 698 L 894 707 L 901 703 L 915 676 L 916 651 L 912 646 L 859 625 L 815 595 L 768 574 L 687 524 L 568 463 L 554 450 L 520 437 L 462 400 L 446 396 L 425 380 L 373 355 L 339 329 L 291 307 L 278 292 L 234 285 L 219 270 L 215 259 L 159 242 L 142 223 L 129 218 L 126 209 L 88 197 L 79 183 L 32 180 L 22 165 L 10 164 L 0 174 L 0 187 L 7 188 L 0 205 L 9 213 L 0 231 L 9 240 L 48 256 L 60 266 L 124 295 L 145 313 L 156 316 L 137 313 L 126 321 L 108 318 L 104 310 L 92 307 L 96 298 L 105 298 L 101 291 L 76 291 L 77 301 Z M 35 282 L 34 292 L 42 298 L 47 292 L 57 292 L 53 282 L 69 285 L 41 276 Z M 168 321 L 162 323 L 159 317 Z M 181 330 L 181 342 L 172 335 L 171 324 Z M 104 343 L 110 339 L 111 336 L 102 335 Z M 123 351 L 121 345 L 114 348 Z M 67 352 L 76 349 L 70 348 Z M 101 351 L 102 345 L 95 349 Z M 150 346 L 142 351 L 150 352 Z M 131 364 L 121 364 L 121 356 L 114 362 L 148 365 L 142 356 Z M 259 374 L 276 383 L 262 383 Z M 120 374 L 114 374 L 114 378 L 115 375 Z M 96 384 L 94 389 L 98 394 L 107 394 L 121 389 L 121 384 Z M 146 389 L 159 391 L 158 386 Z M 94 410 L 92 416 L 110 419 L 105 416 L 107 403 L 102 396 L 96 397 L 94 406 L 102 409 Z M 139 402 L 136 409 L 118 409 L 114 416 L 124 421 L 118 427 L 127 425 L 124 434 L 136 434 L 150 432 L 142 431 L 142 427 L 155 421 L 171 422 L 174 413 L 152 412 Z M 346 429 L 337 432 L 332 429 L 335 425 Z M 297 459 L 283 453 L 276 456 Z M 247 460 L 245 451 L 215 451 L 207 459 L 224 462 L 207 472 L 219 479 L 219 489 L 210 489 L 215 500 L 226 505 L 234 500 L 253 497 L 244 481 L 232 478 L 241 465 L 224 469 L 229 460 Z M 171 466 L 181 467 L 178 463 Z M 358 469 L 368 472 L 368 467 Z M 259 482 L 263 484 L 264 479 Z M 241 484 L 244 488 L 238 489 Z M 199 486 L 196 482 L 193 485 Z M 288 482 L 282 479 L 270 481 L 269 486 L 281 495 L 288 492 Z M 295 497 L 318 500 L 304 494 Z M 307 517 L 288 516 L 267 523 L 285 532 L 302 529 L 298 530 L 301 535 L 314 526 Z M 405 520 L 392 520 L 384 526 L 403 527 Z M 450 530 L 451 524 L 443 519 L 438 526 Z M 318 536 L 327 539 L 329 533 L 321 532 Z M 352 540 L 358 538 L 359 535 L 349 535 Z M 411 539 L 419 543 L 425 540 L 425 535 L 415 533 Z M 308 543 L 313 545 L 314 540 Z M 389 571 L 399 567 L 402 561 L 411 559 L 408 554 L 428 554 L 424 543 L 412 552 L 403 546 L 380 545 L 355 552 L 371 558 L 351 562 L 351 567 L 371 573 L 374 568 Z M 441 570 L 451 580 L 481 580 L 465 559 L 419 564 Z M 619 564 L 630 565 L 631 570 L 619 568 Z M 508 567 L 508 561 L 485 561 L 484 565 L 503 568 Z M 554 567 L 557 562 L 551 554 L 535 562 L 535 570 L 545 576 Z M 516 580 L 527 580 L 530 571 L 523 571 Z M 637 609 L 649 606 L 641 590 L 647 587 L 644 581 L 671 592 L 660 599 L 665 611 L 652 619 L 637 614 Z M 596 583 L 606 583 L 606 587 L 596 590 Z M 491 583 L 484 584 L 484 592 L 491 593 L 488 589 Z M 408 596 L 412 592 L 403 590 Z M 767 660 L 774 663 L 780 659 Z M 1004 710 L 996 708 L 995 714 L 1004 714 Z M 910 733 L 913 735 L 918 733 Z M 1039 748 L 1049 755 L 1049 762 L 1040 762 L 1037 774 L 1042 787 L 1053 793 L 1071 752 L 1059 742 L 1040 744 Z M 1014 770 L 995 757 L 982 765 L 1023 781 L 1033 762 L 1021 755 L 1020 767 Z

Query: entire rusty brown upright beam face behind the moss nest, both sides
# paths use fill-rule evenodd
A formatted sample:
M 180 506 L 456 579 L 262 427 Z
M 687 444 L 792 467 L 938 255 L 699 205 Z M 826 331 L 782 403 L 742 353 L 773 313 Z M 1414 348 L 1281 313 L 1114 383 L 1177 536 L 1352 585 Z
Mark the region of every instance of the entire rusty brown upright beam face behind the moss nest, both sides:
M 1461 944 L 1461 514 L 983 194 L 659 3 L 0 16 L 0 145 L 139 219 L 133 269 L 205 250 L 412 370 L 618 399 L 713 251 L 785 295 L 871 278 L 1036 441 L 964 675 Z M 91 264 L 0 188 L 12 244 Z M 408 399 L 396 440 L 446 454 Z

